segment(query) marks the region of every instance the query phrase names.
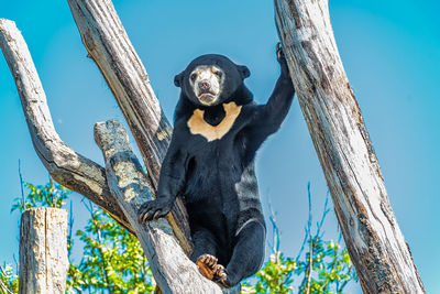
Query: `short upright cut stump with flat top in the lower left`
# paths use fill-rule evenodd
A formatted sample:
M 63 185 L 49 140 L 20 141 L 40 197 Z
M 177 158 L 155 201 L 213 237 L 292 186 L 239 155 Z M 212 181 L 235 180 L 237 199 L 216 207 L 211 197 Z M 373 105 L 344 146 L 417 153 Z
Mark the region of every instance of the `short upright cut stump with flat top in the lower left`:
M 31 208 L 21 217 L 21 294 L 66 293 L 67 211 L 59 208 Z

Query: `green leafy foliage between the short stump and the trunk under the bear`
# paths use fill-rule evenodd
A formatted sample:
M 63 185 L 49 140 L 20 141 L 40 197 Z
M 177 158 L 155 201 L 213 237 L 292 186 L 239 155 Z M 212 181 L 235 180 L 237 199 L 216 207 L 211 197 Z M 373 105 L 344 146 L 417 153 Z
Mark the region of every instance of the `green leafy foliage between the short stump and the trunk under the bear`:
M 138 239 L 101 209 L 88 207 L 90 219 L 76 235 L 84 257 L 69 269 L 68 285 L 78 292 L 153 293 L 154 282 Z

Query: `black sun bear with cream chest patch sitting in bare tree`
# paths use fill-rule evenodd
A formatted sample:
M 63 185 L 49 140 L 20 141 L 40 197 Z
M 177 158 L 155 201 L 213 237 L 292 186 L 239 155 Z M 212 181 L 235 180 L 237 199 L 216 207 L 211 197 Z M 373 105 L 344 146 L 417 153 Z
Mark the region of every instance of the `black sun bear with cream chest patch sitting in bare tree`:
M 265 224 L 254 172 L 255 152 L 286 117 L 295 94 L 284 53 L 266 105 L 256 105 L 243 80 L 248 67 L 216 54 L 194 59 L 174 83 L 182 88 L 157 198 L 139 221 L 169 213 L 182 195 L 194 241 L 191 260 L 226 287 L 258 271 Z M 224 265 L 224 266 L 223 266 Z

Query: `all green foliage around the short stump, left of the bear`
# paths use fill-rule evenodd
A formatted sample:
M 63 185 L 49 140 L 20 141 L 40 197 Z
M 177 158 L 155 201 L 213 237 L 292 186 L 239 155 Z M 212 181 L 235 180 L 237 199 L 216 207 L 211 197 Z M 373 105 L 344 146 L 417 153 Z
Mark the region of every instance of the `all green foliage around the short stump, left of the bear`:
M 23 213 L 31 207 L 64 208 L 72 193 L 50 178 L 45 185 L 23 183 L 29 194 L 14 199 L 11 211 Z M 89 203 L 90 218 L 76 236 L 82 241 L 82 258 L 78 264 L 72 259 L 74 248 L 70 210 L 67 252 L 70 265 L 67 292 L 81 293 L 153 293 L 155 283 L 139 240 L 102 209 Z M 72 204 L 70 204 L 72 209 Z M 1 268 L 0 268 L 1 269 Z M 0 292 L 18 293 L 19 279 L 10 265 L 0 271 Z M 2 286 L 7 290 L 2 290 Z

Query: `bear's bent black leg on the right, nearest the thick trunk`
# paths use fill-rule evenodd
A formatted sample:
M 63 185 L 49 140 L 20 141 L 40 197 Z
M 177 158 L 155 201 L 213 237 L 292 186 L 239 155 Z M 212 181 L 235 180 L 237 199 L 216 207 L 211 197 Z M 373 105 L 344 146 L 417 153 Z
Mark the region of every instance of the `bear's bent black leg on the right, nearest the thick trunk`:
M 264 260 L 265 235 L 266 230 L 258 221 L 250 221 L 241 229 L 221 284 L 234 286 L 260 270 Z

